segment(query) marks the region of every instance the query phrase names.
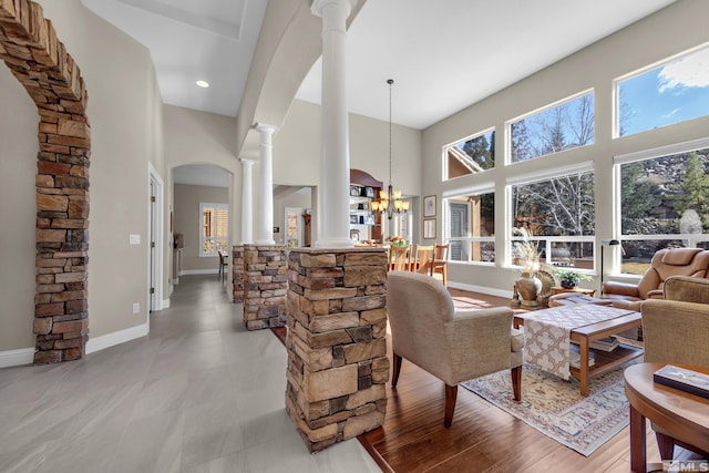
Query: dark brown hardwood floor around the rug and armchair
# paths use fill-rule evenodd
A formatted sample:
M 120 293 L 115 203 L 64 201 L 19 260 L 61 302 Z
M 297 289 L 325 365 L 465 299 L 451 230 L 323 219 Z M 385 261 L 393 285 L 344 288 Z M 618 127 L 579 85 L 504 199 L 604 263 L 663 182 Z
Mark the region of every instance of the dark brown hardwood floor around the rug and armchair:
M 456 305 L 508 305 L 504 298 L 451 289 Z M 391 360 L 391 345 L 388 345 Z M 522 387 L 524 397 L 524 385 Z M 443 382 L 403 361 L 397 389 L 387 385 L 387 417 L 359 436 L 386 472 L 628 472 L 628 428 L 593 455 L 557 443 L 465 389 L 458 391 L 453 425 L 443 426 Z M 648 423 L 649 424 L 649 423 Z M 648 462 L 659 462 L 648 428 Z M 688 453 L 688 452 L 687 452 Z M 680 457 L 690 455 L 680 453 Z

